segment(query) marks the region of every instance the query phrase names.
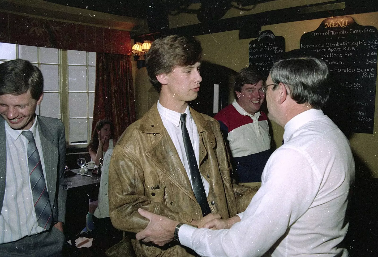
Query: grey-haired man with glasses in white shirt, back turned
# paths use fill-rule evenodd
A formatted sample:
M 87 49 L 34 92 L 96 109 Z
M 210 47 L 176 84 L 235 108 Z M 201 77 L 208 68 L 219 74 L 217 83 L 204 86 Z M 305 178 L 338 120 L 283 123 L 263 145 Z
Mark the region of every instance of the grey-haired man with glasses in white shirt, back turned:
M 285 144 L 270 156 L 247 209 L 201 229 L 140 209 L 151 222 L 136 238 L 160 243 L 160 227 L 176 227 L 181 245 L 201 256 L 348 256 L 341 242 L 355 163 L 348 139 L 321 110 L 327 65 L 290 53 L 274 63 L 263 88 Z

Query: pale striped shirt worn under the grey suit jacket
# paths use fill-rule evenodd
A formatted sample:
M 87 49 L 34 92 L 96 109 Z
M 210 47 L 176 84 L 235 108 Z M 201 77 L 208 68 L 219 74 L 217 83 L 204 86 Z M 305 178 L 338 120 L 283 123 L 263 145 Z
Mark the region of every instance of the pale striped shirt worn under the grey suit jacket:
M 45 230 L 38 226 L 34 210 L 27 153 L 29 141 L 25 136 L 21 135 L 23 130 L 14 130 L 9 127 L 6 121 L 4 122 L 6 134 L 6 182 L 3 208 L 0 214 L 0 243 L 13 242 L 26 235 L 38 234 Z M 43 175 L 46 178 L 37 116 L 29 130 L 33 132 L 41 159 Z

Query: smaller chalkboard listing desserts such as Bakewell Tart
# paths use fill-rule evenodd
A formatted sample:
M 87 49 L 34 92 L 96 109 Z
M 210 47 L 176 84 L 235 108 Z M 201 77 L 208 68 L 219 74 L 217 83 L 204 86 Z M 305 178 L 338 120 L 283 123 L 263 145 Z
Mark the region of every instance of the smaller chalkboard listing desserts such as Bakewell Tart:
M 249 42 L 249 67 L 259 70 L 268 77 L 274 57 L 284 51 L 284 37 L 274 36 L 270 30 L 262 31 L 257 39 Z

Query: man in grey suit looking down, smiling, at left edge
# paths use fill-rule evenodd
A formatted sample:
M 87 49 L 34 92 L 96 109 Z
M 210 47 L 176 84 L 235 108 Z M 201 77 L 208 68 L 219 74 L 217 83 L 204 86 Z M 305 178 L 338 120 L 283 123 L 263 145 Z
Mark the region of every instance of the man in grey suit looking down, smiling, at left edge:
M 26 60 L 0 64 L 0 256 L 60 256 L 67 187 L 65 131 L 37 116 L 41 71 Z

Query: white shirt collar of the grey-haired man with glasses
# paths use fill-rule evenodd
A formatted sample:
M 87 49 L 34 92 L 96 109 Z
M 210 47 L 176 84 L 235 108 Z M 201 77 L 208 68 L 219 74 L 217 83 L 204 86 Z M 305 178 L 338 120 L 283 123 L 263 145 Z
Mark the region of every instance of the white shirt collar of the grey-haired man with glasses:
M 316 109 L 310 109 L 294 116 L 285 125 L 285 132 L 283 133 L 283 141 L 287 142 L 290 139 L 291 135 L 293 135 L 294 131 L 296 131 L 299 127 L 321 116 L 324 116 L 323 111 L 316 110 Z

